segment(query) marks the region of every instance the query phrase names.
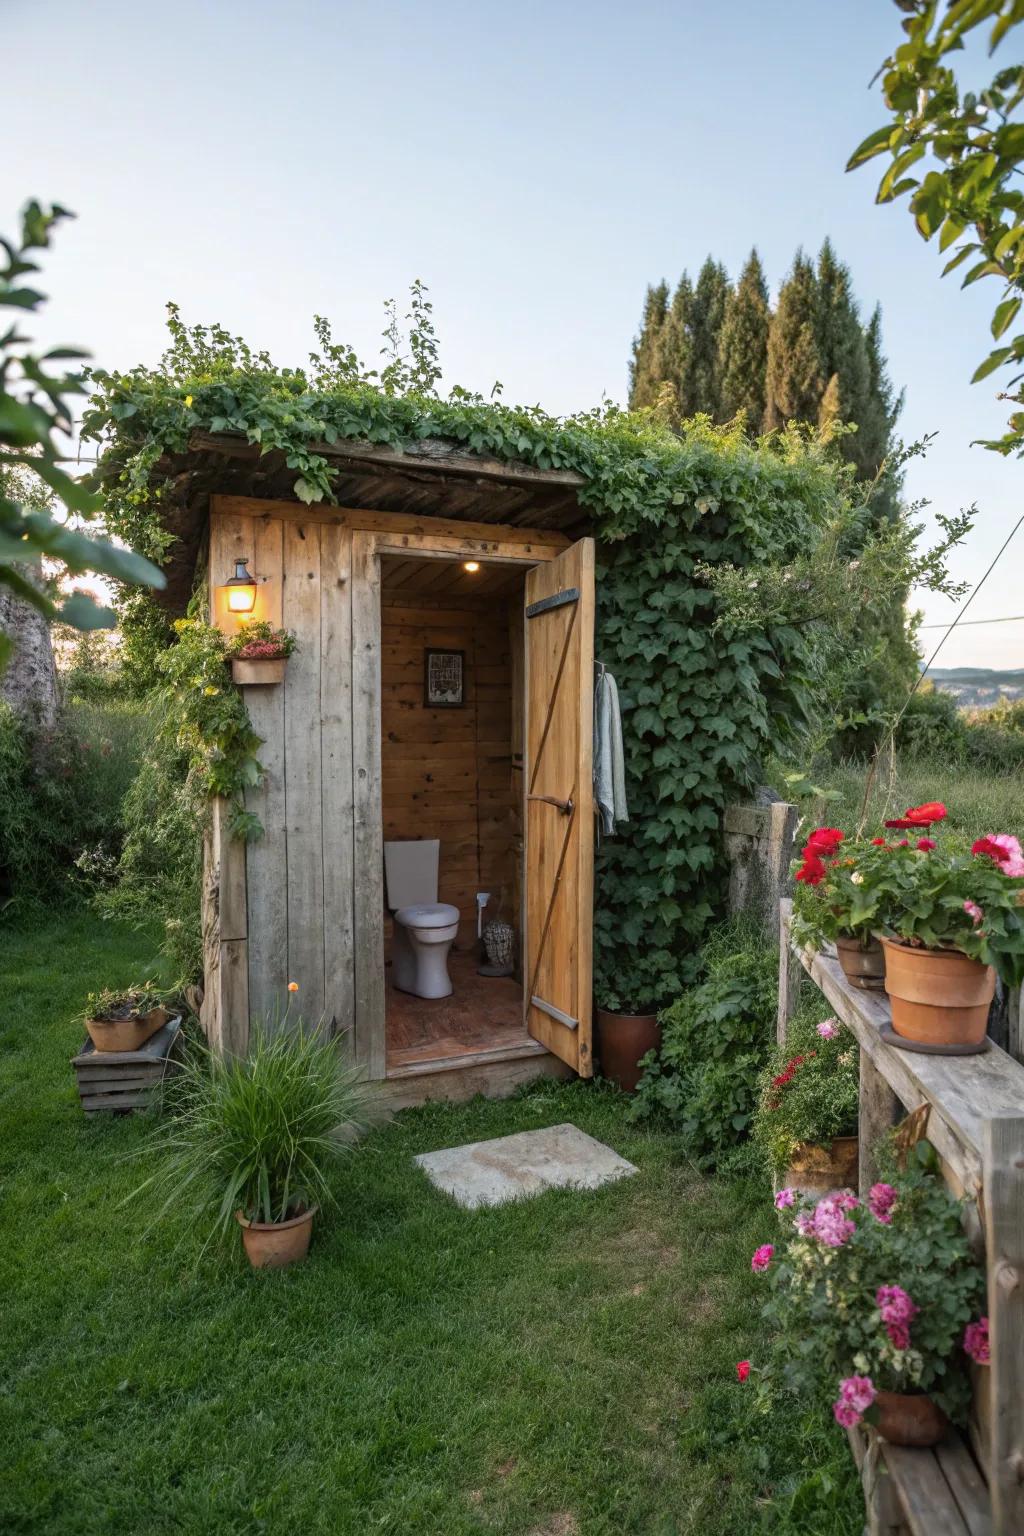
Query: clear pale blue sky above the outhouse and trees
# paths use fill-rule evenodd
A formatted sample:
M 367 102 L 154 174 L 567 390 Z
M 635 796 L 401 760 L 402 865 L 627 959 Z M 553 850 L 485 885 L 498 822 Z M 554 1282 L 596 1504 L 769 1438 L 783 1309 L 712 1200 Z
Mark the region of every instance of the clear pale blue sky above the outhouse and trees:
M 757 244 L 772 286 L 827 233 L 880 301 L 901 432 L 936 430 L 909 488 L 978 501 L 976 579 L 1024 465 L 972 438 L 1004 409 L 969 378 L 987 284 L 940 283 L 903 206 L 851 149 L 890 0 L 6 0 L 0 229 L 28 197 L 75 209 L 37 333 L 152 362 L 163 306 L 301 362 L 310 316 L 372 358 L 381 301 L 430 284 L 448 382 L 573 412 L 623 399 L 645 284 Z M 1024 530 L 972 617 L 1024 613 Z M 929 621 L 952 614 L 926 602 Z M 933 636 L 927 631 L 924 639 Z M 1024 624 L 964 630 L 940 665 L 1024 665 Z

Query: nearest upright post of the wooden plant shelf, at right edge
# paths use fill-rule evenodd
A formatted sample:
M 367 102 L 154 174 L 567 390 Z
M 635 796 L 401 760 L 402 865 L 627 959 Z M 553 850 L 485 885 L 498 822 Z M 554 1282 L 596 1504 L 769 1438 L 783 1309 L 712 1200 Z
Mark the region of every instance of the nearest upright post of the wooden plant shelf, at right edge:
M 1024 1531 L 1024 1117 L 987 1120 L 984 1207 L 989 1269 L 993 1536 Z

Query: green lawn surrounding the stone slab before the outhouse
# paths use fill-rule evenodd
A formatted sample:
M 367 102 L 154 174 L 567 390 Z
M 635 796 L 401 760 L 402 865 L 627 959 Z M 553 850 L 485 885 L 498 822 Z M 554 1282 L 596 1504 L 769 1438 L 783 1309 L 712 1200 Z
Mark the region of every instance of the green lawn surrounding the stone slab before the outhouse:
M 609 1089 L 405 1112 L 292 1272 L 121 1209 L 152 1121 L 81 1115 L 72 1020 L 155 948 L 91 915 L 0 935 L 0 1530 L 860 1531 L 838 1432 L 735 1381 L 766 1192 L 700 1178 Z M 411 1163 L 567 1120 L 639 1175 L 464 1212 Z

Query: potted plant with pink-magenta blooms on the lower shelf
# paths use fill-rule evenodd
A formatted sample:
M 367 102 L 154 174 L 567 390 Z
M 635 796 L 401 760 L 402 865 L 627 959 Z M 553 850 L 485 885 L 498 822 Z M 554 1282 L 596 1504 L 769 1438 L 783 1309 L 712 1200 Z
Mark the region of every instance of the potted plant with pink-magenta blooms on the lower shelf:
M 963 1424 L 967 1359 L 989 1358 L 984 1273 L 936 1161 L 921 1143 L 863 1203 L 781 1189 L 786 1235 L 751 1261 L 771 1287 L 772 1367 L 801 1398 L 831 1401 L 837 1424 L 864 1421 L 895 1445 L 935 1445 Z

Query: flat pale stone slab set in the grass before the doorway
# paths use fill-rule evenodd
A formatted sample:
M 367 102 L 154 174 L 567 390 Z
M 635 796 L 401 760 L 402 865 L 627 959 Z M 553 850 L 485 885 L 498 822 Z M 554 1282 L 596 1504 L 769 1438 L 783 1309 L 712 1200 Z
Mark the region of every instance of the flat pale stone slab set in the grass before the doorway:
M 421 1152 L 415 1161 L 431 1184 L 467 1210 L 504 1206 L 543 1189 L 599 1189 L 637 1172 L 633 1163 L 573 1124 Z

